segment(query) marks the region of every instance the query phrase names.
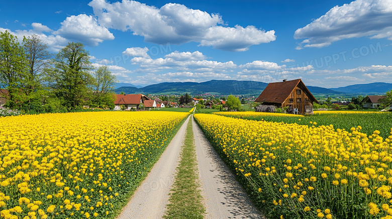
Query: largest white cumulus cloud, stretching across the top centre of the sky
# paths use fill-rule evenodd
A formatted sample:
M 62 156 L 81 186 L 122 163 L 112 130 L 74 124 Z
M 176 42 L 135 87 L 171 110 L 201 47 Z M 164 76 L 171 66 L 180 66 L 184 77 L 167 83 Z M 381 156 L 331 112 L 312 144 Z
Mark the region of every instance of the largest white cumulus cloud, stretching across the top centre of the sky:
M 100 25 L 121 31 L 132 31 L 156 44 L 199 42 L 227 51 L 245 51 L 252 45 L 276 39 L 275 31 L 265 32 L 253 26 L 235 28 L 223 24 L 218 14 L 193 10 L 180 4 L 166 4 L 160 9 L 136 1 L 108 3 L 92 0 L 89 4 Z

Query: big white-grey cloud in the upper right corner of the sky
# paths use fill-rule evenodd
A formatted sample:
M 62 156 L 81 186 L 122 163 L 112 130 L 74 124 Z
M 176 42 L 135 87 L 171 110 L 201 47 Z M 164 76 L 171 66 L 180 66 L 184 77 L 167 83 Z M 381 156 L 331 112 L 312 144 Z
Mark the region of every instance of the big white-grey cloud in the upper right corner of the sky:
M 296 49 L 325 47 L 348 38 L 370 37 L 392 40 L 392 2 L 389 0 L 356 0 L 335 6 L 304 28 L 294 38 L 304 39 Z

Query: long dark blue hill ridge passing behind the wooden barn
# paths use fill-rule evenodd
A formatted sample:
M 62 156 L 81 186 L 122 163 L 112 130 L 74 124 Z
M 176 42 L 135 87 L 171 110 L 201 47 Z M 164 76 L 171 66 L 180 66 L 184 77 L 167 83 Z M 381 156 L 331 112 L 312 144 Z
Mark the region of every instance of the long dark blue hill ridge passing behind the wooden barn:
M 236 80 L 212 80 L 202 83 L 197 82 L 164 82 L 159 84 L 148 85 L 137 88 L 124 86 L 116 89 L 116 93 L 124 92 L 126 94 L 134 93 L 178 93 L 188 92 L 190 94 L 219 93 L 221 95 L 229 94 L 255 94 L 259 95 L 267 83 L 258 81 L 236 81 Z M 308 86 L 312 93 L 316 94 L 338 94 L 341 92 L 333 91 L 327 88 Z

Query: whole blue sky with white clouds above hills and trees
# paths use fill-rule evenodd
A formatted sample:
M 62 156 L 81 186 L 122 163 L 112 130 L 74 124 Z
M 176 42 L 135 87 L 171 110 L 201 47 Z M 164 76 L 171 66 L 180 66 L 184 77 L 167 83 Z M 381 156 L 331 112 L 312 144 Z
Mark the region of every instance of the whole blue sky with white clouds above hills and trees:
M 0 1 L 0 31 L 81 42 L 119 82 L 392 83 L 392 2 Z

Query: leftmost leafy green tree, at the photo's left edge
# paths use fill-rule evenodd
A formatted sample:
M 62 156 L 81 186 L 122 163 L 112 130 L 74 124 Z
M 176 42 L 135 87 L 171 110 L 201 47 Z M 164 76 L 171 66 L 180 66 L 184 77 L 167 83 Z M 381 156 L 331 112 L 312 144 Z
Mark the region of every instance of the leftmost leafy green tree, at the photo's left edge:
M 27 59 L 18 38 L 0 32 L 0 88 L 8 90 L 7 106 L 15 109 L 21 101 L 21 89 L 26 78 Z

